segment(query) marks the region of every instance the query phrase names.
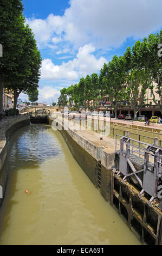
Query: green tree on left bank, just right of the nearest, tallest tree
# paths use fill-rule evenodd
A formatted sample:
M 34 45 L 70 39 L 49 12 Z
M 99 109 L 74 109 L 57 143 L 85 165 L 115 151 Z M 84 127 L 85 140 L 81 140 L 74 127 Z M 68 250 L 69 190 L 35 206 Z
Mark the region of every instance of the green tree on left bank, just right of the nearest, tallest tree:
M 28 25 L 24 27 L 24 39 L 22 54 L 17 59 L 18 65 L 16 69 L 18 75 L 15 75 L 12 83 L 8 85 L 9 89 L 14 90 L 14 108 L 16 108 L 17 98 L 20 93 L 35 92 L 40 78 L 42 58 L 40 51 L 37 49 L 34 34 Z

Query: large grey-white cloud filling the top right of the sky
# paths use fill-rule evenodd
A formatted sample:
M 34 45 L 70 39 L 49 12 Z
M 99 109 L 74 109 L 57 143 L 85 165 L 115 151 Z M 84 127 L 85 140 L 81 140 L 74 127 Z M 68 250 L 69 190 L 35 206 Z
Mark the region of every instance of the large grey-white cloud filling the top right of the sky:
M 27 19 L 39 45 L 67 40 L 80 47 L 119 46 L 128 38 L 143 38 L 161 27 L 161 0 L 71 0 L 63 16 Z

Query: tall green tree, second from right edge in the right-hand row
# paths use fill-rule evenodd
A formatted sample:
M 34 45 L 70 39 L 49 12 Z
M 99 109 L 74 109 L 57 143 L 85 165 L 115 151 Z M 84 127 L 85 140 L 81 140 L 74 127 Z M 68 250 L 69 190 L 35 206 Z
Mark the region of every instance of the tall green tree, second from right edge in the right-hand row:
M 135 42 L 132 52 L 127 48 L 125 53 L 127 69 L 127 94 L 126 99 L 133 107 L 134 120 L 137 113 L 144 105 L 146 89 L 151 85 L 152 76 L 148 68 L 148 44 L 147 39 Z

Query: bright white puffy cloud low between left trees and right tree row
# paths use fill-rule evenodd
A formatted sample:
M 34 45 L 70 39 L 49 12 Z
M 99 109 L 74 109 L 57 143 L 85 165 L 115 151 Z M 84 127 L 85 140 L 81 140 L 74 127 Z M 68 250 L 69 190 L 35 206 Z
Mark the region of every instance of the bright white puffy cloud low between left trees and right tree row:
M 82 76 L 98 72 L 107 60 L 103 57 L 96 59 L 92 52 L 95 47 L 87 44 L 79 48 L 76 58 L 63 62 L 62 65 L 55 65 L 51 59 L 44 59 L 42 62 L 41 78 L 43 80 L 78 80 Z

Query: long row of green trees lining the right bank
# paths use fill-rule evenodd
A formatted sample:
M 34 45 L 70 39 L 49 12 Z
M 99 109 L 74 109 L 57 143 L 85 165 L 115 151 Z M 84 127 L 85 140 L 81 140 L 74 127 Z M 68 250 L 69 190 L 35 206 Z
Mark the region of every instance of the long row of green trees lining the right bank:
M 162 64 L 158 56 L 158 45 L 162 43 L 162 31 L 150 34 L 148 38 L 135 42 L 134 46 L 127 47 L 123 56 L 114 56 L 108 64 L 104 63 L 97 74 L 82 77 L 78 84 L 61 90 L 60 106 L 65 106 L 69 101 L 70 107 L 76 108 L 95 105 L 95 100 L 102 100 L 102 96 L 108 94 L 109 101 L 116 109 L 123 100 L 134 108 L 134 118 L 144 106 L 146 90 L 150 88 L 153 101 L 161 109 L 161 105 L 155 100 L 155 93 L 162 99 Z M 155 86 L 152 82 L 157 83 Z M 99 103 L 96 102 L 96 105 Z

